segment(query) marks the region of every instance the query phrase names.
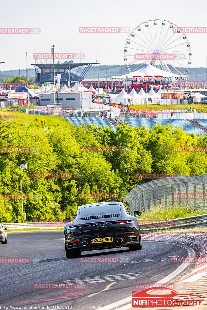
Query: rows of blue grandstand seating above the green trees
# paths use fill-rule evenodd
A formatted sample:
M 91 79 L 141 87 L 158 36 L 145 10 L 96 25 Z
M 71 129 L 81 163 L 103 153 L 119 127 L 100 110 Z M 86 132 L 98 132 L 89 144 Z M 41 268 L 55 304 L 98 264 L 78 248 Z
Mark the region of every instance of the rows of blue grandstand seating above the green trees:
M 96 124 L 100 125 L 102 128 L 105 128 L 106 126 L 110 127 L 113 131 L 116 131 L 116 127 L 111 124 L 110 122 L 102 119 L 101 117 L 65 117 L 70 121 L 71 124 L 74 126 L 78 126 L 80 123 L 84 124 Z M 157 124 L 160 124 L 161 126 L 167 126 L 168 124 L 172 124 L 174 128 L 183 127 L 183 131 L 186 133 L 193 133 L 198 136 L 199 134 L 206 135 L 206 132 L 202 129 L 198 128 L 197 126 L 193 125 L 192 123 L 188 122 L 186 119 L 171 119 L 171 118 L 153 118 L 152 121 L 147 118 L 142 117 L 123 117 L 123 120 L 127 121 L 129 126 L 131 127 L 142 127 L 146 126 L 148 128 L 148 131 L 151 130 L 154 126 Z M 196 120 L 195 120 L 196 121 Z M 196 122 L 199 121 L 199 124 L 201 124 L 204 127 L 207 127 L 207 120 L 205 119 L 198 119 Z M 118 119 L 119 122 L 119 119 Z

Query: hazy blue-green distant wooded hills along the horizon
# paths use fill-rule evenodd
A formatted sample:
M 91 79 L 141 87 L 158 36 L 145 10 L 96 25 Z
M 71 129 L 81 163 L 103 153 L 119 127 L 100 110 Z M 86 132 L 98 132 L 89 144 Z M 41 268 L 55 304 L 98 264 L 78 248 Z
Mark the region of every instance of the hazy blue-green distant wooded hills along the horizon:
M 135 69 L 137 65 L 132 65 L 132 70 Z M 128 70 L 125 69 L 125 65 L 99 65 L 99 78 L 106 77 L 107 69 L 107 78 L 111 76 L 123 75 L 128 73 Z M 184 71 L 184 68 L 178 68 L 180 72 Z M 206 81 L 206 68 L 190 68 L 189 69 L 189 80 L 190 81 Z M 174 69 L 172 72 L 176 73 Z M 78 72 L 80 74 L 80 70 Z M 12 78 L 19 75 L 19 69 L 11 71 L 0 71 L 0 81 L 4 81 L 6 78 Z M 26 76 L 26 69 L 20 69 L 20 76 Z M 84 78 L 97 78 L 97 66 L 91 66 Z M 35 80 L 35 71 L 34 69 L 28 69 L 28 78 Z

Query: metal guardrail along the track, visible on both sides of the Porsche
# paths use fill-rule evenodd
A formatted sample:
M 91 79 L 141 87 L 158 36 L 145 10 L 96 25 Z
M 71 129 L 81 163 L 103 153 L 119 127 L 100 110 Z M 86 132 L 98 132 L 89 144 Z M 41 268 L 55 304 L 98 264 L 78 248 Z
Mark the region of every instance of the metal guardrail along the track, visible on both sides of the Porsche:
M 141 222 L 141 221 L 140 221 Z M 173 224 L 169 224 L 172 223 Z M 3 228 L 7 229 L 63 229 L 64 223 L 2 223 Z M 179 229 L 179 228 L 194 228 L 194 227 L 207 227 L 207 214 L 183 217 L 180 219 L 172 219 L 166 221 L 153 221 L 146 224 L 139 224 L 141 232 L 154 232 L 156 230 L 165 229 Z

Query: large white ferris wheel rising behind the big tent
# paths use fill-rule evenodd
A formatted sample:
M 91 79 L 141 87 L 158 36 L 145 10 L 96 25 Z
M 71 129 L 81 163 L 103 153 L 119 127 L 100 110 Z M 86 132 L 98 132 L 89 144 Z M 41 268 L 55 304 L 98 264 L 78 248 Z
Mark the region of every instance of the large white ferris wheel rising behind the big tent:
M 139 24 L 129 34 L 124 47 L 125 68 L 129 72 L 151 64 L 167 72 L 174 69 L 177 74 L 185 74 L 189 72 L 191 55 L 186 34 L 167 20 Z

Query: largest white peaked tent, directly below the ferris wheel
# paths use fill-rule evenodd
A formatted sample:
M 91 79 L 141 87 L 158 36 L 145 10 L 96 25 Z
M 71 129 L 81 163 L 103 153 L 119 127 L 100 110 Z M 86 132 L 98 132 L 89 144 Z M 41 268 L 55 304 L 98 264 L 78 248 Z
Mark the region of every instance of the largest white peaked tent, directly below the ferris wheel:
M 172 72 L 164 71 L 161 69 L 156 68 L 155 66 L 152 66 L 151 64 L 147 64 L 146 66 L 143 66 L 141 69 L 138 69 L 134 72 L 129 72 L 124 75 L 120 76 L 114 76 L 111 77 L 113 79 L 126 79 L 126 78 L 134 78 L 134 77 L 163 77 L 163 78 L 171 78 Z M 179 77 L 179 74 L 174 73 L 174 77 Z

